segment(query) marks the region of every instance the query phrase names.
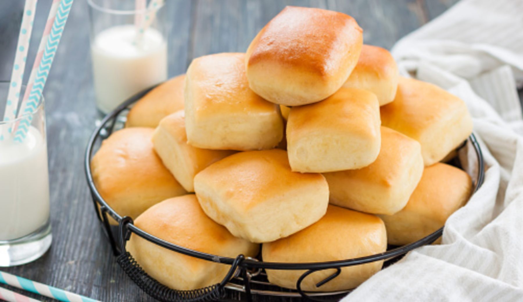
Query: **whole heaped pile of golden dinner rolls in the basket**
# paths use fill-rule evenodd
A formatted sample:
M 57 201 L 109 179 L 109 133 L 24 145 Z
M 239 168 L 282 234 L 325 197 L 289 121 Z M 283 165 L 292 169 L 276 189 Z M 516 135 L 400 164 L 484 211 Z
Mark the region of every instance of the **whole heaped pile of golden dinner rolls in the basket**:
M 103 142 L 98 191 L 153 236 L 268 262 L 364 257 L 434 232 L 471 194 L 467 173 L 440 162 L 471 134 L 471 117 L 362 40 L 348 15 L 287 7 L 246 53 L 196 58 Z M 217 283 L 230 268 L 136 235 L 127 247 L 174 289 Z M 320 287 L 332 270 L 315 272 L 302 289 L 354 288 L 381 266 L 343 268 Z M 303 272 L 267 275 L 295 288 Z

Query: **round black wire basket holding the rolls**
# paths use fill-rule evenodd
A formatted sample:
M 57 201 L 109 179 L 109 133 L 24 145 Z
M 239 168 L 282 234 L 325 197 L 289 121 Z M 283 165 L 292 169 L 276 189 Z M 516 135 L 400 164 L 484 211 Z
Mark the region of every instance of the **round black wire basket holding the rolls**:
M 139 92 L 137 95 L 134 95 L 129 100 L 122 103 L 121 106 L 119 106 L 116 110 L 106 115 L 106 117 L 101 121 L 100 125 L 93 132 L 89 139 L 84 162 L 87 183 L 93 197 L 94 210 L 98 219 L 100 220 L 101 225 L 103 226 L 104 233 L 109 239 L 112 251 L 117 256 L 117 262 L 127 273 L 127 275 L 151 297 L 163 302 L 225 300 L 226 297 L 230 296 L 236 296 L 240 299 L 252 301 L 253 295 L 302 298 L 313 301 L 335 301 L 349 293 L 350 290 L 338 292 L 304 292 L 301 289 L 301 283 L 304 278 L 316 271 L 334 269 L 335 271 L 333 274 L 329 275 L 323 281 L 316 284 L 317 287 L 321 288 L 323 284 L 336 278 L 340 274 L 341 268 L 345 266 L 384 260 L 384 267 L 386 267 L 391 263 L 399 260 L 408 251 L 424 245 L 429 245 L 442 235 L 443 228 L 440 228 L 433 234 L 413 242 L 410 245 L 400 247 L 389 246 L 387 251 L 379 254 L 369 255 L 367 257 L 329 262 L 277 263 L 263 262 L 255 258 L 244 257 L 244 255 L 238 255 L 236 258 L 229 258 L 222 257 L 220 255 L 203 253 L 174 245 L 146 233 L 145 231 L 136 227 L 130 217 L 120 216 L 104 201 L 103 198 L 101 198 L 100 193 L 96 189 L 93 181 L 92 172 L 90 170 L 90 160 L 93 156 L 94 150 L 99 148 L 101 141 L 109 137 L 113 131 L 119 130 L 124 126 L 127 113 L 129 112 L 129 108 L 132 106 L 132 104 L 144 96 L 152 88 L 154 87 Z M 474 134 L 471 134 L 468 140 L 465 141 L 458 149 L 462 149 L 465 146 L 467 146 L 467 148 L 472 148 L 474 152 L 469 152 L 469 154 L 476 156 L 475 161 L 477 167 L 475 169 L 475 175 L 472 176 L 474 184 L 473 192 L 476 192 L 481 187 L 484 178 L 483 155 Z M 451 164 L 461 167 L 460 162 L 457 159 L 454 159 Z M 118 226 L 111 226 L 109 224 L 109 216 L 118 222 Z M 140 265 L 133 259 L 131 254 L 126 251 L 126 242 L 129 240 L 132 233 L 152 243 L 155 243 L 158 246 L 176 251 L 178 253 L 211 262 L 228 264 L 230 265 L 229 273 L 224 277 L 222 282 L 206 288 L 200 288 L 193 291 L 176 291 L 174 289 L 170 289 L 145 273 Z M 267 281 L 267 275 L 264 271 L 265 269 L 304 270 L 305 272 L 301 275 L 297 282 L 297 290 L 292 290 L 270 284 Z M 234 295 L 235 292 L 240 292 L 242 294 Z

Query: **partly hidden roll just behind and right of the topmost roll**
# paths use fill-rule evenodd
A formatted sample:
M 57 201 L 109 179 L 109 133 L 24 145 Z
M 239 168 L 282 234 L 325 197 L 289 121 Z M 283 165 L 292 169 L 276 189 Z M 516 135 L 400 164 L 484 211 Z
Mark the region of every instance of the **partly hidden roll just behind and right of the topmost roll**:
M 358 64 L 343 87 L 369 90 L 378 97 L 380 106 L 392 102 L 400 74 L 391 53 L 381 47 L 363 45 Z

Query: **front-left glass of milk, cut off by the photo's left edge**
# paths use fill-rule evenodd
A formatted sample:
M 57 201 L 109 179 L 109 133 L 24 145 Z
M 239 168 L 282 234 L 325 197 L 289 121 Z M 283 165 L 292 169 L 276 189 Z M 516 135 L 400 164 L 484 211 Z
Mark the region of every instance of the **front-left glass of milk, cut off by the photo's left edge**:
M 0 266 L 38 259 L 51 245 L 49 173 L 44 101 L 32 114 L 2 121 L 8 82 L 0 82 Z M 20 96 L 23 96 L 22 87 Z M 14 127 L 32 117 L 24 141 L 14 141 Z

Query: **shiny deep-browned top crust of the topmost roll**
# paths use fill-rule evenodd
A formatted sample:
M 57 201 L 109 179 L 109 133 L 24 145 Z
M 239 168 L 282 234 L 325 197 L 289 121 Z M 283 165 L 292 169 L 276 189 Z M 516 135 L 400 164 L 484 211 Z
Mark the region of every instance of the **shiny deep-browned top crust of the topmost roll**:
M 337 71 L 349 55 L 348 45 L 361 39 L 362 32 L 356 20 L 346 14 L 287 6 L 254 38 L 247 50 L 247 63 L 274 60 L 328 75 Z

